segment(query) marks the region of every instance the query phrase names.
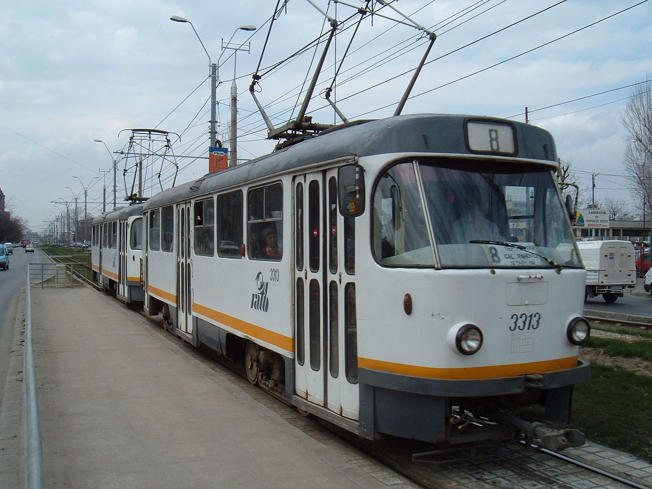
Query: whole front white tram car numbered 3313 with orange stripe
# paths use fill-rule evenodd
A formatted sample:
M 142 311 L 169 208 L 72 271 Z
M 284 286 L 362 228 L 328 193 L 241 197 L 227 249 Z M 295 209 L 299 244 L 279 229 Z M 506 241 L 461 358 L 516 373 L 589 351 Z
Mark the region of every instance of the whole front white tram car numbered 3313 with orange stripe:
M 589 325 L 556 168 L 502 119 L 324 132 L 148 200 L 145 310 L 363 437 L 513 436 L 525 404 L 567 424 Z

